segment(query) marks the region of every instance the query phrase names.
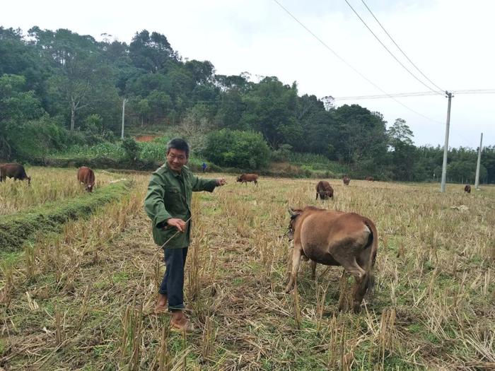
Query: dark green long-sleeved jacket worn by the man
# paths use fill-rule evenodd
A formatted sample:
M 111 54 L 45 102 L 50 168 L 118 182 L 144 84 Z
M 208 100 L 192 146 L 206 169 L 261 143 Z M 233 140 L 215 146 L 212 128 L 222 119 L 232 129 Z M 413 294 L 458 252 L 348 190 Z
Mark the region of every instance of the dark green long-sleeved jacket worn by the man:
M 165 249 L 179 249 L 190 244 L 191 221 L 186 225 L 186 232 L 177 232 L 177 228 L 165 228 L 170 218 L 180 218 L 184 221 L 191 217 L 192 192 L 213 192 L 216 179 L 196 177 L 188 167 L 182 167 L 177 173 L 170 170 L 165 163 L 153 172 L 148 184 L 148 193 L 144 199 L 144 211 L 151 218 L 153 225 L 153 240 L 162 246 L 170 237 L 175 235 L 165 245 Z

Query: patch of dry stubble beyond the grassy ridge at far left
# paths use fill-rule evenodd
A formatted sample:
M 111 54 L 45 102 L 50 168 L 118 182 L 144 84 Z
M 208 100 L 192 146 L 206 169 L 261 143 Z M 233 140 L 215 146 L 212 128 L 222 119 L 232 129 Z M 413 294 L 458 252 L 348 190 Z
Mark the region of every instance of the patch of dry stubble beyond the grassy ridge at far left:
M 21 211 L 30 206 L 44 204 L 47 201 L 59 201 L 84 192 L 77 181 L 77 169 L 56 169 L 50 167 L 26 167 L 31 177 L 27 182 L 14 182 L 8 178 L 0 183 L 0 215 Z M 116 175 L 105 170 L 95 172 L 96 186 L 103 187 L 115 179 Z

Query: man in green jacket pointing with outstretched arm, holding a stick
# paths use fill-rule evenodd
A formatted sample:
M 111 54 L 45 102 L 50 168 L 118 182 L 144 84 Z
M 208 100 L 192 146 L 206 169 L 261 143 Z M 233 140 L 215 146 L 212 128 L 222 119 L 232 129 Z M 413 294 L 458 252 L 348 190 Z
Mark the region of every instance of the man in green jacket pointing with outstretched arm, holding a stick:
M 172 329 L 192 331 L 184 314 L 184 266 L 191 234 L 192 192 L 213 192 L 225 178 L 201 179 L 185 165 L 189 145 L 183 139 L 167 144 L 167 160 L 151 175 L 144 209 L 153 223 L 153 240 L 165 252 L 165 275 L 158 291 L 155 313 L 172 312 Z

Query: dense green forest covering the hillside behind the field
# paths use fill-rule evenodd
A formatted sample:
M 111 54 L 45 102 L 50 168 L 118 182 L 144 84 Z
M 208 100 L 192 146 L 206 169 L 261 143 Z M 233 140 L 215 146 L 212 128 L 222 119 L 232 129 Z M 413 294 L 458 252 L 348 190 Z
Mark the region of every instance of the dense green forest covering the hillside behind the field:
M 30 160 L 73 144 L 115 141 L 123 99 L 128 123 L 180 125 L 194 150 L 217 165 L 254 169 L 290 153 L 314 153 L 353 177 L 441 175 L 441 148 L 414 146 L 404 120 L 387 129 L 379 112 L 299 96 L 296 83 L 216 74 L 209 61 L 182 58 L 165 35 L 143 30 L 127 45 L 64 29 L 33 27 L 23 35 L 0 27 L 0 158 Z M 254 160 L 250 143 L 260 148 Z M 448 179 L 472 182 L 476 157 L 469 148 L 450 150 Z M 481 180 L 495 182 L 494 146 L 484 148 Z

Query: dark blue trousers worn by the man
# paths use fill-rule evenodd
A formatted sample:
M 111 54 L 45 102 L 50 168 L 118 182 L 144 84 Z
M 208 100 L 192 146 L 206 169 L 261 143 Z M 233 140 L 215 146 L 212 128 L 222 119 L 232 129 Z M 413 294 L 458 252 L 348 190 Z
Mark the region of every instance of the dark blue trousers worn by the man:
M 165 274 L 159 293 L 167 295 L 169 310 L 184 309 L 184 267 L 187 247 L 165 250 Z

